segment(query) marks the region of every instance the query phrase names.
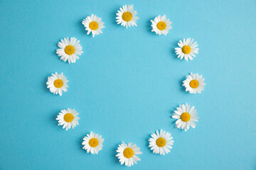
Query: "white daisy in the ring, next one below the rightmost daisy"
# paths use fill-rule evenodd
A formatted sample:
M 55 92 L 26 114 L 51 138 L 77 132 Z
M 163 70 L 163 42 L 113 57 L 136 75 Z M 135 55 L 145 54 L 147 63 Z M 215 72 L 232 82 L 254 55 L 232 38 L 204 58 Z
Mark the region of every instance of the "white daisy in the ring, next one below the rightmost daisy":
M 192 128 L 196 128 L 196 124 L 194 122 L 198 121 L 198 116 L 196 113 L 196 109 L 193 106 L 190 108 L 190 105 L 186 103 L 185 105 L 180 105 L 176 111 L 173 113 L 174 115 L 171 118 L 178 119 L 176 120 L 176 126 L 178 129 L 185 129 L 185 132 L 191 126 Z

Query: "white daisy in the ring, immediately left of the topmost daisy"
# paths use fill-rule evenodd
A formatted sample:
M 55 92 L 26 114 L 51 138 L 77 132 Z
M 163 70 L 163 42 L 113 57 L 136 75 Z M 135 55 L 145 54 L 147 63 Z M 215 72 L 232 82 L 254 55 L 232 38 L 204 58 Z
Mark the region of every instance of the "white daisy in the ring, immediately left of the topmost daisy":
M 104 23 L 101 21 L 101 18 L 93 14 L 91 16 L 87 16 L 87 18 L 82 21 L 82 25 L 85 26 L 85 30 L 87 30 L 87 35 L 92 32 L 92 37 L 95 37 L 95 35 L 99 35 L 100 33 L 102 33 L 102 28 L 105 28 L 105 26 L 103 26 Z

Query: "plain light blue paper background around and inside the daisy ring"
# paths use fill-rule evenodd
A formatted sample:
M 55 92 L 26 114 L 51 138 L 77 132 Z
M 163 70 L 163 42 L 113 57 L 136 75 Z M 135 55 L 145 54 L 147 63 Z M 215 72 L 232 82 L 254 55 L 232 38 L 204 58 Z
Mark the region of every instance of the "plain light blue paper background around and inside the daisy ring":
M 115 23 L 123 4 L 134 4 L 137 28 Z M 0 169 L 128 169 L 114 157 L 122 140 L 143 152 L 129 169 L 255 169 L 255 10 L 255 0 L 0 1 Z M 82 26 L 91 13 L 105 22 L 95 38 Z M 173 21 L 167 36 L 151 33 L 159 14 Z M 55 50 L 73 36 L 84 54 L 68 64 Z M 176 58 L 183 38 L 199 44 L 193 61 Z M 61 97 L 46 89 L 53 72 L 70 81 Z M 190 72 L 206 79 L 202 94 L 181 86 Z M 182 103 L 198 110 L 188 132 L 170 118 Z M 80 113 L 75 130 L 55 120 L 66 108 Z M 161 128 L 174 137 L 164 157 L 147 141 Z M 97 155 L 81 145 L 91 130 L 105 138 Z

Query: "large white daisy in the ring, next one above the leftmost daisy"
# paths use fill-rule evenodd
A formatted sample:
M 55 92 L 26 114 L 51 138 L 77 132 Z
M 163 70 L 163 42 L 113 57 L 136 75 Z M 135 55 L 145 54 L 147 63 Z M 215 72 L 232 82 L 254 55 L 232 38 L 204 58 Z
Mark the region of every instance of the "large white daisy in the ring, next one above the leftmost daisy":
M 59 49 L 56 50 L 58 57 L 63 62 L 68 60 L 68 63 L 74 63 L 75 60 L 79 59 L 78 55 L 82 55 L 82 46 L 79 44 L 80 40 L 76 38 L 64 38 L 58 42 Z

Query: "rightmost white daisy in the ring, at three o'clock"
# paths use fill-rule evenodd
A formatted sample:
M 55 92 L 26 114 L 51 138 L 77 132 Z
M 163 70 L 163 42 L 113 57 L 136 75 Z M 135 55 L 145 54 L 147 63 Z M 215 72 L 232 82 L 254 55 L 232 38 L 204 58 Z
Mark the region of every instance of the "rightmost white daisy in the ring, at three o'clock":
M 185 86 L 186 91 L 189 91 L 191 94 L 201 94 L 206 84 L 204 83 L 203 76 L 199 76 L 198 73 L 191 73 L 187 76 L 187 79 L 183 81 L 182 86 Z

